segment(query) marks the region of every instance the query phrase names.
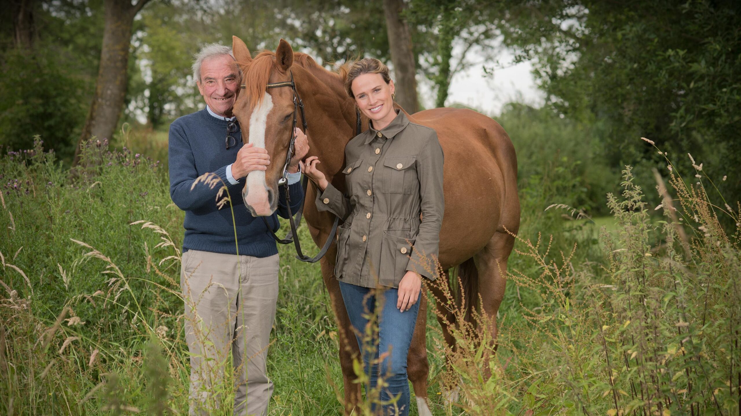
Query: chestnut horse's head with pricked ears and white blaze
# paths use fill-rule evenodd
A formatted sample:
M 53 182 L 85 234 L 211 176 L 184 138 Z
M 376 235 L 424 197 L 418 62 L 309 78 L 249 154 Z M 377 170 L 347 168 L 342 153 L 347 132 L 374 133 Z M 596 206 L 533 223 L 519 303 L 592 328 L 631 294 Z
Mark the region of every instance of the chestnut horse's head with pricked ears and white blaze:
M 290 138 L 293 135 L 293 88 L 268 84 L 290 82 L 293 49 L 281 39 L 278 49 L 251 58 L 242 39 L 233 36 L 234 58 L 242 69 L 242 89 L 234 102 L 233 114 L 242 127 L 242 138 L 270 155 L 268 170 L 247 175 L 242 198 L 252 215 L 272 215 L 278 206 L 278 181 L 282 177 Z M 299 115 L 296 115 L 297 117 Z

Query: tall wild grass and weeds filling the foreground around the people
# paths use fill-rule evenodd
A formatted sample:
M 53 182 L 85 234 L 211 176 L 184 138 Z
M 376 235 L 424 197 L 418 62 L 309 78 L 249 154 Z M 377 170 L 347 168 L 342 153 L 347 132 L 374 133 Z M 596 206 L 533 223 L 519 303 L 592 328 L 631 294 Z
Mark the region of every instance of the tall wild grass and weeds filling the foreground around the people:
M 93 144 L 74 175 L 40 143 L 1 156 L 2 415 L 187 413 L 183 215 L 162 164 L 131 147 Z M 521 178 L 496 353 L 466 326 L 445 349 L 428 312 L 433 414 L 737 415 L 738 207 L 664 172 L 674 197 L 654 209 L 627 169 L 612 215 L 566 219 L 578 215 L 545 208 L 568 201 L 573 182 L 533 175 Z M 299 236 L 310 246 L 305 227 Z M 270 415 L 337 415 L 337 328 L 319 268 L 290 246 L 280 254 Z

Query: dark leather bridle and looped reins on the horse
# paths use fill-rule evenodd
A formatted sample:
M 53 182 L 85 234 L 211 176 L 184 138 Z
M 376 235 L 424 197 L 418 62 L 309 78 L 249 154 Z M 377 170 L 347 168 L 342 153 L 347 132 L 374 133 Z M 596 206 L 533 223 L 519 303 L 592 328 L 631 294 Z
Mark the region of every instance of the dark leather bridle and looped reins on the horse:
M 285 201 L 286 201 L 286 207 L 288 208 L 288 221 L 290 222 L 290 232 L 286 234 L 285 238 L 279 238 L 275 232 L 273 232 L 273 227 L 268 223 L 268 217 L 262 217 L 262 221 L 265 221 L 265 226 L 268 227 L 268 230 L 270 230 L 270 234 L 273 235 L 273 239 L 275 239 L 276 242 L 280 244 L 290 244 L 293 242 L 293 245 L 296 246 L 296 258 L 298 258 L 300 261 L 305 261 L 307 263 L 316 263 L 324 257 L 325 254 L 327 254 L 327 250 L 329 249 L 329 246 L 332 244 L 332 240 L 334 239 L 334 235 L 337 232 L 337 224 L 339 224 L 339 218 L 334 218 L 334 224 L 332 224 L 332 231 L 330 231 L 327 241 L 325 241 L 325 245 L 322 246 L 322 249 L 319 251 L 319 254 L 317 254 L 314 257 L 309 257 L 308 255 L 305 255 L 301 250 L 301 243 L 299 242 L 298 233 L 296 232 L 296 228 L 299 227 L 299 224 L 301 224 L 301 217 L 304 212 L 304 204 L 306 204 L 306 192 L 308 190 L 308 182 L 309 178 L 308 176 L 304 175 L 304 180 L 302 181 L 302 187 L 304 189 L 304 203 L 301 204 L 301 207 L 299 207 L 298 212 L 296 212 L 296 218 L 293 218 L 293 212 L 291 212 L 290 209 L 290 191 L 288 189 L 288 164 L 290 164 L 290 159 L 293 158 L 293 155 L 295 153 L 295 146 L 296 146 L 296 135 L 293 134 L 293 132 L 296 130 L 296 119 L 299 115 L 299 110 L 301 111 L 301 122 L 304 127 L 304 132 L 307 130 L 307 122 L 306 122 L 306 116 L 304 114 L 304 101 L 302 101 L 301 97 L 299 96 L 299 92 L 296 90 L 296 83 L 293 81 L 293 72 L 288 70 L 288 73 L 290 75 L 290 81 L 282 81 L 282 82 L 273 82 L 268 84 L 268 88 L 279 88 L 279 87 L 290 87 L 291 90 L 293 90 L 293 127 L 290 129 L 290 142 L 288 144 L 288 152 L 286 152 L 285 156 L 285 163 L 283 164 L 283 170 L 281 172 L 281 177 L 278 180 L 278 185 L 285 184 Z M 240 88 L 245 88 L 245 84 L 242 84 L 239 86 Z M 360 124 L 360 112 L 356 109 L 356 134 L 360 134 L 361 130 L 361 124 Z

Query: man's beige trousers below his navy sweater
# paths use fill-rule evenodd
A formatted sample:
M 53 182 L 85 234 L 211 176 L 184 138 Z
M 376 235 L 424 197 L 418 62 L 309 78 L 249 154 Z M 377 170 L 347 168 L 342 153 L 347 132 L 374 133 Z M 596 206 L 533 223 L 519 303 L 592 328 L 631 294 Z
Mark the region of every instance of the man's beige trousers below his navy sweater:
M 224 374 L 230 351 L 233 415 L 268 414 L 273 383 L 265 359 L 276 314 L 278 271 L 278 255 L 183 253 L 180 286 L 190 349 L 190 415 L 216 413 L 229 393 Z M 219 413 L 231 414 L 223 410 Z

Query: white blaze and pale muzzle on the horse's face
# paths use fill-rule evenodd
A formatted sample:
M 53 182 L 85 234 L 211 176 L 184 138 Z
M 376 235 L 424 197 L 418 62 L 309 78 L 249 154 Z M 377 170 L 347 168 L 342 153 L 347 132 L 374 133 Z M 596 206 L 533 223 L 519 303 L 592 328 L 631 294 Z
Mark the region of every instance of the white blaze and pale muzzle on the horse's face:
M 253 147 L 265 149 L 265 129 L 268 125 L 268 114 L 272 109 L 273 98 L 266 92 L 262 104 L 255 107 L 250 115 L 250 143 Z M 247 174 L 247 185 L 242 197 L 245 198 L 247 209 L 250 209 L 253 215 L 262 217 L 273 214 L 271 199 L 276 195 L 270 195 L 272 193 L 265 182 L 264 170 L 253 170 Z

